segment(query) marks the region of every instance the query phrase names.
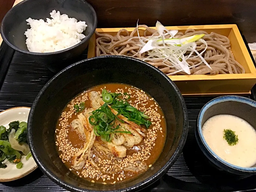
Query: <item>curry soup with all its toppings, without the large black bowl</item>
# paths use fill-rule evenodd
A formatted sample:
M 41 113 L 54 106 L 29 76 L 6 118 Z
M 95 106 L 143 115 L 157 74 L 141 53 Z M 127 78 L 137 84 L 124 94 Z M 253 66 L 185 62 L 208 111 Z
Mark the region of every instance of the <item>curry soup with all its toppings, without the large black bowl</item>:
M 105 103 L 104 99 L 111 100 L 110 93 L 116 104 Z M 141 114 L 144 124 L 130 122 L 120 108 L 112 109 L 118 102 L 126 103 L 123 109 L 129 110 L 127 113 Z M 106 114 L 115 117 L 115 123 L 108 123 L 113 124 L 110 134 L 101 127 Z M 98 124 L 95 119 L 99 119 Z M 138 176 L 154 164 L 165 144 L 166 121 L 154 98 L 143 90 L 109 83 L 92 87 L 70 101 L 55 133 L 59 157 L 70 171 L 93 183 L 115 184 Z

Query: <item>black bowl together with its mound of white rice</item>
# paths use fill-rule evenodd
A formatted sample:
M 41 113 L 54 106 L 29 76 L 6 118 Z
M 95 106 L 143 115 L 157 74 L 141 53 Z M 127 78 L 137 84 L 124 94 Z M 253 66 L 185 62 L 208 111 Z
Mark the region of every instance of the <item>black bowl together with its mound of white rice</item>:
M 97 26 L 93 7 L 84 0 L 25 0 L 7 12 L 3 40 L 57 72 L 82 54 Z

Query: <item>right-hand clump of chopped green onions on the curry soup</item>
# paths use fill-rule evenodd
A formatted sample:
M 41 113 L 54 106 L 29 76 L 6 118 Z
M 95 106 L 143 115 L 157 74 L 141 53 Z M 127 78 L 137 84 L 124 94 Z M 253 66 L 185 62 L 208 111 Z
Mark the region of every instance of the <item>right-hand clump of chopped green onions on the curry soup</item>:
M 149 119 L 149 116 L 145 115 L 144 113 L 140 112 L 135 107 L 131 106 L 126 100 L 130 98 L 130 95 L 127 93 L 124 93 L 124 95 L 129 95 L 129 97 L 126 100 L 117 98 L 121 94 L 116 93 L 108 93 L 106 89 L 102 90 L 102 99 L 104 101 L 104 97 L 106 94 L 112 95 L 111 103 L 108 103 L 112 109 L 115 109 L 118 115 L 123 115 L 126 117 L 129 121 L 132 121 L 136 123 L 137 125 L 145 125 L 147 128 L 152 124 L 151 121 L 147 120 Z M 105 101 L 106 102 L 106 101 Z M 121 119 L 117 118 L 119 121 L 123 122 Z

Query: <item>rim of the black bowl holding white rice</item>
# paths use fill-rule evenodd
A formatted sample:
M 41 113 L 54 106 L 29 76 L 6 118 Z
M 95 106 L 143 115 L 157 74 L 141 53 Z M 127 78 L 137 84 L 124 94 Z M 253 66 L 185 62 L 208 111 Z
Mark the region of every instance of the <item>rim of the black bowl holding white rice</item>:
M 97 27 L 97 14 L 96 14 L 96 11 L 93 9 L 93 7 L 85 0 L 73 0 L 73 1 L 82 1 L 84 2 L 93 12 L 93 17 L 95 17 L 95 21 L 93 23 L 93 28 L 92 30 L 90 31 L 90 33 L 84 38 L 82 39 L 81 42 L 75 44 L 74 46 L 72 47 L 69 47 L 67 49 L 63 49 L 61 51 L 55 51 L 55 52 L 48 52 L 48 53 L 37 53 L 37 52 L 30 52 L 30 51 L 25 51 L 25 50 L 22 50 L 22 49 L 19 49 L 18 47 L 14 46 L 13 44 L 11 44 L 7 38 L 6 38 L 6 35 L 5 33 L 3 33 L 3 24 L 5 23 L 5 19 L 6 17 L 10 14 L 11 11 L 13 11 L 14 9 L 18 9 L 19 6 L 25 4 L 27 1 L 34 1 L 34 0 L 24 0 L 20 3 L 18 3 L 17 5 L 15 5 L 14 7 L 12 7 L 6 14 L 5 14 L 5 17 L 3 18 L 2 20 L 2 23 L 1 23 L 1 26 L 0 26 L 0 33 L 2 35 L 2 38 L 3 38 L 3 41 L 5 41 L 7 43 L 7 45 L 9 45 L 11 48 L 13 48 L 15 51 L 18 51 L 18 52 L 21 52 L 21 53 L 24 53 L 24 54 L 28 54 L 28 55 L 38 55 L 38 56 L 47 56 L 47 55 L 57 55 L 57 54 L 61 54 L 61 53 L 64 53 L 64 52 L 67 52 L 67 51 L 70 51 L 70 50 L 73 50 L 75 48 L 77 48 L 79 45 L 83 44 L 84 42 L 90 40 L 91 36 L 94 34 L 95 30 L 96 30 L 96 27 Z M 86 23 L 85 23 L 86 24 Z M 22 31 L 21 31 L 22 33 Z M 23 32 L 25 33 L 25 31 Z

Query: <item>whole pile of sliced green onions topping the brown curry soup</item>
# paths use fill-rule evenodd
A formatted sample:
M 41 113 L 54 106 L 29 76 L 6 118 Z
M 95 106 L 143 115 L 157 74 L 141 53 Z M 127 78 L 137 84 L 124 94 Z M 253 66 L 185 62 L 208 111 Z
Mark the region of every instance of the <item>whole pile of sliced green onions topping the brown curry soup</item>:
M 99 109 L 91 112 L 92 115 L 89 117 L 90 124 L 94 125 L 93 131 L 95 135 L 100 136 L 101 140 L 104 142 L 110 142 L 114 137 L 114 133 L 131 134 L 131 132 L 126 131 L 126 129 L 125 131 L 118 130 L 120 127 L 119 125 L 114 127 L 116 119 L 124 123 L 122 119 L 118 118 L 118 115 L 123 115 L 129 121 L 132 121 L 137 125 L 145 125 L 147 128 L 151 125 L 151 121 L 146 120 L 149 116 L 131 106 L 126 101 L 127 99 L 123 100 L 117 98 L 120 95 L 121 94 L 117 93 L 108 93 L 106 89 L 103 89 L 102 99 L 105 103 L 99 107 Z M 123 95 L 128 95 L 128 99 L 130 98 L 128 93 L 124 93 Z M 111 108 L 118 112 L 117 115 L 112 113 L 108 105 L 111 105 Z

